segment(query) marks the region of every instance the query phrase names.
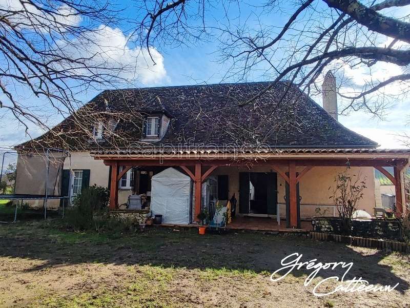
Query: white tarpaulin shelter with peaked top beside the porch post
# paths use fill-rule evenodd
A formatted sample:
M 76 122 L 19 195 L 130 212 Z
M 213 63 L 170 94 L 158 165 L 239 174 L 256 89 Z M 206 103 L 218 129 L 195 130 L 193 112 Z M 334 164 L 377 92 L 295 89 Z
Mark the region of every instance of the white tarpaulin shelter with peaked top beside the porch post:
M 168 168 L 151 178 L 152 215 L 162 215 L 162 223 L 191 223 L 191 178 Z

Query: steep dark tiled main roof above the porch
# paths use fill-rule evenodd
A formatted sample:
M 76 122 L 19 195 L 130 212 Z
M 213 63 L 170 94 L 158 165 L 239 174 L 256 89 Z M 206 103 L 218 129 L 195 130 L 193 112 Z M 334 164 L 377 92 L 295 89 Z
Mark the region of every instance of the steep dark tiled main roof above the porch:
M 167 133 L 161 141 L 153 143 L 154 148 L 165 144 L 200 143 L 205 147 L 213 144 L 218 147 L 247 145 L 246 148 L 263 144 L 278 151 L 293 152 L 321 151 L 316 148 L 362 151 L 360 149 L 377 147 L 375 141 L 348 130 L 308 95 L 286 82 L 278 83 L 253 104 L 240 106 L 268 85 L 243 83 L 107 90 L 89 104 L 94 104 L 96 109 L 109 106 L 112 111 L 130 115 L 135 112 L 168 114 L 171 121 Z M 57 129 L 71 130 L 70 119 Z M 142 120 L 120 122 L 117 129 L 127 132 L 130 138 L 117 143 L 116 148 L 132 149 L 132 144 L 140 140 Z M 66 139 L 69 138 L 74 136 L 67 133 Z M 78 136 L 75 138 L 79 142 Z M 57 141 L 54 146 L 58 147 Z M 88 147 L 90 150 L 113 148 L 112 142 L 90 143 Z

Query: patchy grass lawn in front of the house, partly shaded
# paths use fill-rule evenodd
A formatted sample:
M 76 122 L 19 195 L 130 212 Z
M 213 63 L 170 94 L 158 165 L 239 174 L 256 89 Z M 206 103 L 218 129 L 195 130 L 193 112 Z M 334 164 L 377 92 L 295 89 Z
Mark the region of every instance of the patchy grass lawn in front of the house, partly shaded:
M 57 220 L 0 225 L 0 306 L 5 307 L 408 307 L 408 255 L 262 233 L 78 233 Z M 391 293 L 312 294 L 311 271 L 270 275 L 292 253 L 354 262 L 349 279 L 399 286 Z M 343 271 L 336 271 L 337 275 Z M 334 271 L 324 270 L 313 283 Z M 333 290 L 335 284 L 326 288 Z M 333 288 L 333 289 L 332 289 Z

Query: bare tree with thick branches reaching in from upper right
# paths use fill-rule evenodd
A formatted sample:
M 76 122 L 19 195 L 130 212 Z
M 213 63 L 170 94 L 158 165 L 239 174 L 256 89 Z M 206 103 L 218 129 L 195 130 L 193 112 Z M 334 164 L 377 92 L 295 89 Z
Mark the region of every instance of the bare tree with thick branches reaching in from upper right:
M 250 104 L 282 79 L 317 95 L 323 72 L 339 75 L 338 92 L 346 114 L 364 110 L 383 117 L 391 98 L 403 97 L 410 80 L 409 0 L 268 0 L 251 5 L 240 1 L 136 1 L 137 20 L 132 39 L 145 46 L 190 44 L 218 39 L 224 78 L 272 80 L 264 91 L 243 101 Z M 395 11 L 394 11 L 395 10 Z M 283 16 L 283 23 L 277 22 Z M 397 17 L 398 16 L 398 17 Z M 398 74 L 373 74 L 393 64 Z M 367 78 L 357 85 L 344 74 L 360 68 Z M 379 74 L 380 75 L 380 74 Z M 396 85 L 399 90 L 387 90 Z

